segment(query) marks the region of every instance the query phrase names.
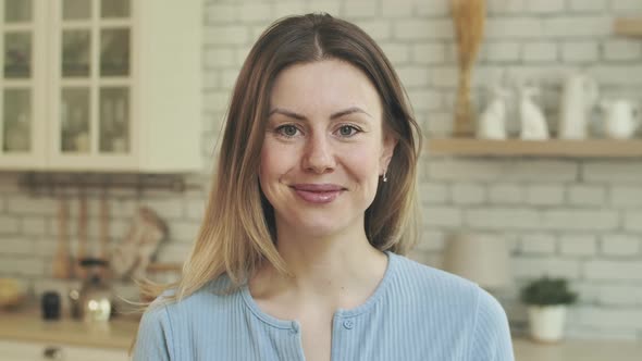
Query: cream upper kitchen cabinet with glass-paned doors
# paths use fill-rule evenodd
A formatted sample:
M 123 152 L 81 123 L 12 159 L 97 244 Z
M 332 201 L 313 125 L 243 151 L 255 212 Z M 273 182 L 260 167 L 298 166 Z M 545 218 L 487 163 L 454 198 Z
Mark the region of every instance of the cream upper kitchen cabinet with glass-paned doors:
M 200 1 L 0 0 L 0 170 L 201 170 Z

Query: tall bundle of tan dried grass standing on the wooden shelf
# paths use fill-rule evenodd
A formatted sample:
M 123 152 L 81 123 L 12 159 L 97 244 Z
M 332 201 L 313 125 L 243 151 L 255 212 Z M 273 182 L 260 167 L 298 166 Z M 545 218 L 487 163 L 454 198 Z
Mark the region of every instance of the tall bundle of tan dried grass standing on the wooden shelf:
M 456 136 L 470 136 L 474 132 L 474 114 L 470 104 L 470 78 L 484 33 L 486 3 L 485 0 L 450 0 L 450 8 L 459 59 L 454 133 Z

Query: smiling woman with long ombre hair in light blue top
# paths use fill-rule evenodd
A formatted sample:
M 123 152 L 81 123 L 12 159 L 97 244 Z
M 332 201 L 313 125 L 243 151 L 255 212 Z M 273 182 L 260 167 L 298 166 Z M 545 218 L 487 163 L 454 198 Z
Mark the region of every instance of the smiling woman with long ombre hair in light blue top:
M 281 20 L 238 76 L 183 277 L 135 360 L 513 360 L 476 285 L 403 257 L 421 136 L 374 41 Z

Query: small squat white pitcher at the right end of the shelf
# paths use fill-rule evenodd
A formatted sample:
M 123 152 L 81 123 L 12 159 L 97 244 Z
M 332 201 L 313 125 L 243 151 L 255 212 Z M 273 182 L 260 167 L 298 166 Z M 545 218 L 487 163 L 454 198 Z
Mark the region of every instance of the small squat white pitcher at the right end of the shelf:
M 613 139 L 629 139 L 641 123 L 640 109 L 624 99 L 603 100 L 600 108 L 604 112 L 604 134 Z

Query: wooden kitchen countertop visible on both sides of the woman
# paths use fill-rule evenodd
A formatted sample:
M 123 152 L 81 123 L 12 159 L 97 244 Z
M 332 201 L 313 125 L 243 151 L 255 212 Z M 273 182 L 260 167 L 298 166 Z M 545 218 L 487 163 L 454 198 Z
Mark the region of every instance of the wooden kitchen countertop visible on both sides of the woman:
M 128 319 L 111 321 L 107 327 L 91 327 L 63 319 L 45 322 L 37 312 L 0 313 L 0 339 L 55 343 L 72 346 L 128 349 L 138 323 Z M 565 340 L 539 344 L 523 338 L 514 340 L 517 361 L 640 361 L 642 341 Z

